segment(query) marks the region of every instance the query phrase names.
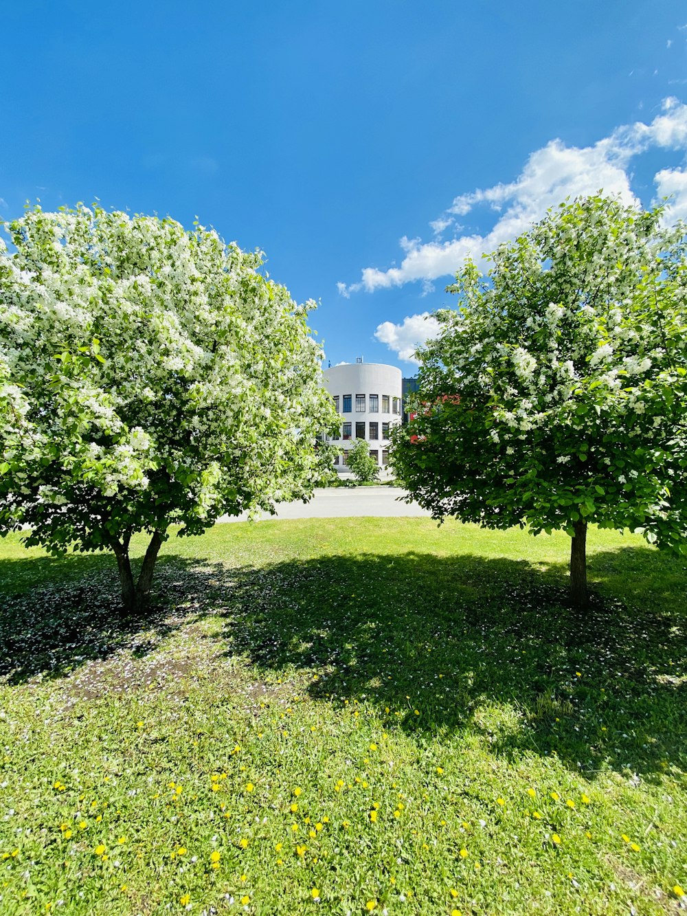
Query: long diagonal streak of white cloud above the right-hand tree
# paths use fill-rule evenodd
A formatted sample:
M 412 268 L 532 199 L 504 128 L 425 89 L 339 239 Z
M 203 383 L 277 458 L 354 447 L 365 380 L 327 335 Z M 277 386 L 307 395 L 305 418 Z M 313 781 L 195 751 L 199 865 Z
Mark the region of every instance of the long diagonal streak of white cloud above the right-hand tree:
M 349 297 L 360 290 L 374 292 L 417 280 L 427 290 L 432 280 L 452 276 L 467 257 L 479 264 L 483 253 L 493 251 L 497 245 L 527 230 L 550 207 L 566 197 L 604 191 L 615 194 L 625 203 L 638 202 L 630 187 L 627 169 L 632 158 L 650 147 L 687 150 L 687 105 L 674 97 L 667 98 L 662 113 L 650 124 L 638 121 L 622 125 L 590 147 L 567 147 L 560 139 L 551 140 L 531 153 L 515 181 L 477 188 L 454 198 L 451 206 L 431 223 L 435 234 L 431 242 L 404 235 L 399 242 L 404 253 L 399 267 L 365 267 L 357 283 L 338 283 L 339 292 Z M 681 179 L 676 176 L 682 174 L 659 172 L 656 178 L 660 187 L 670 186 L 672 192 L 680 193 L 680 201 L 684 200 L 684 191 Z M 457 234 L 446 241 L 436 237 L 452 225 L 454 233 L 460 232 L 462 227 L 453 224 L 454 217 L 464 216 L 478 205 L 486 205 L 499 214 L 490 232 Z M 682 213 L 682 203 L 677 199 L 671 213 L 673 218 Z M 379 328 L 387 328 L 389 324 L 385 322 Z

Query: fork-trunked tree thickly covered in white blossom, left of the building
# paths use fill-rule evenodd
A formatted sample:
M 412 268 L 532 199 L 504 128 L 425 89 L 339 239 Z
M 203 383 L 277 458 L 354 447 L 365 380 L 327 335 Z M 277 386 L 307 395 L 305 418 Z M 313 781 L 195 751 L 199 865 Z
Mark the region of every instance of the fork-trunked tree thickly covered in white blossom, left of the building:
M 260 256 L 79 206 L 0 239 L 0 534 L 114 551 L 144 605 L 171 525 L 307 498 L 336 422 L 307 312 Z M 150 542 L 135 580 L 129 542 Z

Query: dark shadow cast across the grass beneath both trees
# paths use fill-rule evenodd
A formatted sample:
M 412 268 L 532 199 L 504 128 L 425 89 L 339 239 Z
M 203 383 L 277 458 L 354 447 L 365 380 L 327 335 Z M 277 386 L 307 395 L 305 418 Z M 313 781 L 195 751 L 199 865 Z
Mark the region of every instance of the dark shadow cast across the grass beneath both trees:
M 590 778 L 607 767 L 645 778 L 686 768 L 684 614 L 671 596 L 684 594 L 687 577 L 680 561 L 648 548 L 594 554 L 604 597 L 584 612 L 567 603 L 563 564 L 464 553 L 241 568 L 167 555 L 158 606 L 137 619 L 117 615 L 108 570 L 106 580 L 103 569 L 86 585 L 11 600 L 0 617 L 11 682 L 41 664 L 54 677 L 136 651 L 142 630 L 158 644 L 191 619 L 220 615 L 224 655 L 244 658 L 253 677 L 317 674 L 314 700 L 374 703 L 389 728 L 420 740 L 476 734 L 498 755 L 556 754 Z M 651 572 L 640 589 L 632 577 Z M 628 583 L 642 604 L 614 597 Z M 222 667 L 220 657 L 218 689 Z

